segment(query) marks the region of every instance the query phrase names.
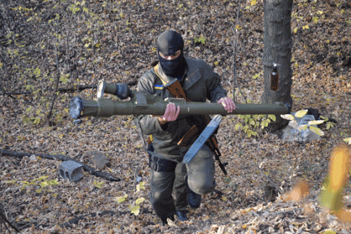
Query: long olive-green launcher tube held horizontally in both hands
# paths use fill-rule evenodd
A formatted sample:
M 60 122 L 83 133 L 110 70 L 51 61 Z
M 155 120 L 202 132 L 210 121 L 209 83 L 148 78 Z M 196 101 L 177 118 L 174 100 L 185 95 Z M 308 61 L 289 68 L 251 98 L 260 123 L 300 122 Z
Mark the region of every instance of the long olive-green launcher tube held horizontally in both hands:
M 235 110 L 228 113 L 221 103 L 186 102 L 179 98 L 166 98 L 151 94 L 135 93 L 131 100 L 112 100 L 98 98 L 85 100 L 74 97 L 69 105 L 72 118 L 85 116 L 111 117 L 112 115 L 164 115 L 168 103 L 180 107 L 179 115 L 284 115 L 289 112 L 288 105 L 274 104 L 242 104 L 235 103 Z

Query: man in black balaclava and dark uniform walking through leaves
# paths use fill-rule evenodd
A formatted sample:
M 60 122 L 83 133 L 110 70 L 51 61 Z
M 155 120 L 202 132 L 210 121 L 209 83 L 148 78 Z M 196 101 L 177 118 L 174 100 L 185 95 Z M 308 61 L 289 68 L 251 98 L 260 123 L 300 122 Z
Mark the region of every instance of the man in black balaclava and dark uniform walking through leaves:
M 185 57 L 183 48 L 184 41 L 180 34 L 173 30 L 161 33 L 157 39 L 159 63 L 143 74 L 138 82 L 138 91 L 173 98 L 174 93 L 170 93 L 165 86 L 179 82 L 187 100 L 222 103 L 227 112 L 232 112 L 234 102 L 226 97 L 227 91 L 220 85 L 218 74 L 204 61 Z M 192 209 L 198 208 L 201 195 L 211 193 L 216 186 L 213 152 L 207 145 L 190 162 L 181 163 L 194 141 L 185 145 L 180 142 L 197 121 L 194 115 L 179 115 L 179 112 L 179 106 L 169 103 L 163 116 L 138 117 L 143 133 L 152 136 L 149 145 L 150 202 L 164 224 L 167 218 L 173 219 L 174 215 L 186 221 L 187 205 Z M 195 140 L 199 134 L 201 131 L 192 138 Z

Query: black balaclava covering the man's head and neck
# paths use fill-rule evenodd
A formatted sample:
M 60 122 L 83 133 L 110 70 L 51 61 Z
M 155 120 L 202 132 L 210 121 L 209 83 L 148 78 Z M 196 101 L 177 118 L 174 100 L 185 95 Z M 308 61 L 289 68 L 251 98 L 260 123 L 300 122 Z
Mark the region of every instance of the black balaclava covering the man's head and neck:
M 173 30 L 167 30 L 157 39 L 157 51 L 164 56 L 170 56 L 180 50 L 180 56 L 173 60 L 166 60 L 159 55 L 159 63 L 162 71 L 170 77 L 181 79 L 185 71 L 185 59 L 183 56 L 184 41 L 182 36 Z

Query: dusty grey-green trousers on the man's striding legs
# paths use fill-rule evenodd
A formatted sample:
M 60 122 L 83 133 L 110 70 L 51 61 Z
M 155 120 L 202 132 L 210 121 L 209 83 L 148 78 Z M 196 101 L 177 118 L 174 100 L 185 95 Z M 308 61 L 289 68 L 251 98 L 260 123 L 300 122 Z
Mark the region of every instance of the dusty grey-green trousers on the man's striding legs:
M 171 172 L 151 170 L 150 202 L 154 212 L 161 219 L 187 209 L 187 188 L 197 194 L 211 193 L 216 181 L 213 153 L 204 145 L 187 164 L 178 163 Z M 174 198 L 173 198 L 174 191 Z

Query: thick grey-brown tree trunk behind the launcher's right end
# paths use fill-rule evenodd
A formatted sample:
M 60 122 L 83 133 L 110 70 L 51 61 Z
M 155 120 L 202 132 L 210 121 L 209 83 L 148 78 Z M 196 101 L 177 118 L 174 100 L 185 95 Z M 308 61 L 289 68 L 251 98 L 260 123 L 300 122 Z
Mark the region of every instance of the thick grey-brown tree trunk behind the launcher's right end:
M 291 84 L 292 74 L 290 60 L 293 39 L 291 37 L 291 9 L 293 0 L 264 0 L 264 48 L 263 76 L 265 79 L 262 103 L 288 103 L 292 105 Z M 273 63 L 277 64 L 279 89 L 270 89 Z M 277 117 L 273 128 L 282 129 L 287 122 Z

